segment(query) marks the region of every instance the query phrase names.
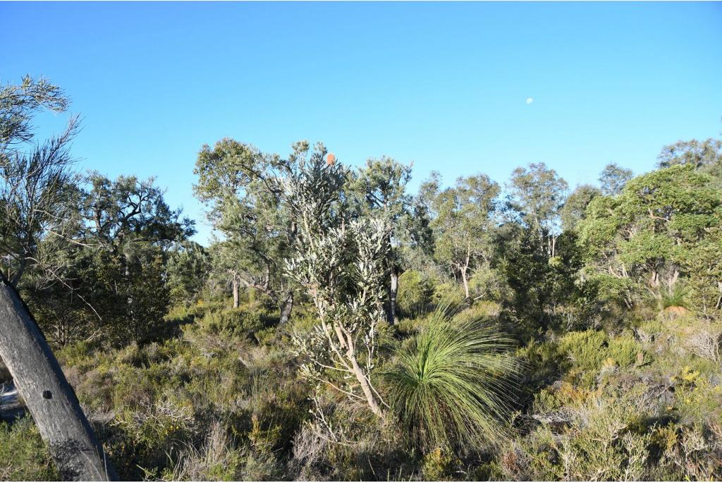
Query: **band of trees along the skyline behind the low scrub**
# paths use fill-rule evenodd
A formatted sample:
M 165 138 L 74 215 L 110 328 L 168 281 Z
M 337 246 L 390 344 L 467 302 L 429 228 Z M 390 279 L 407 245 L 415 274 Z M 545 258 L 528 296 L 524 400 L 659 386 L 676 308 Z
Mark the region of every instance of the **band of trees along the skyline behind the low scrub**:
M 196 161 L 194 191 L 221 234 L 204 248 L 189 240 L 193 220 L 170 208 L 152 179 L 73 170 L 77 118 L 35 141 L 33 114 L 68 107 L 58 87 L 26 78 L 0 98 L 0 259 L 58 344 L 144 341 L 159 334 L 170 305 L 225 290 L 236 307 L 242 290 L 267 297 L 283 324 L 306 297 L 285 264 L 323 217 L 390 226 L 383 303 L 391 323 L 399 276 L 402 299 L 418 299 L 405 301 L 401 315 L 430 303 L 424 284 L 454 283 L 467 300 L 502 303 L 515 331 L 595 326 L 650 297 L 684 297 L 706 316 L 721 308 L 718 140 L 665 147 L 658 169 L 638 178 L 608 165 L 599 186 L 573 191 L 538 163 L 514 170 L 505 186 L 471 175 L 445 187 L 432 173 L 412 196 L 411 167 L 388 157 L 350 170 L 327 161 L 321 144 L 300 142 L 281 157 L 222 139 Z M 321 198 L 303 214 L 284 190 L 313 170 Z

